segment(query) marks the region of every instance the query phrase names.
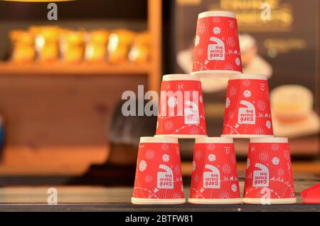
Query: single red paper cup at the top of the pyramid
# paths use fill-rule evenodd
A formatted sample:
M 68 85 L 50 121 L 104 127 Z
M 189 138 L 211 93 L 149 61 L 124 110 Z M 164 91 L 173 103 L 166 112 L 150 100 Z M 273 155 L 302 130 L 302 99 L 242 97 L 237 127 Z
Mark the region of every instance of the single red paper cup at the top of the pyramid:
M 235 14 L 208 11 L 198 15 L 193 75 L 230 76 L 242 72 Z

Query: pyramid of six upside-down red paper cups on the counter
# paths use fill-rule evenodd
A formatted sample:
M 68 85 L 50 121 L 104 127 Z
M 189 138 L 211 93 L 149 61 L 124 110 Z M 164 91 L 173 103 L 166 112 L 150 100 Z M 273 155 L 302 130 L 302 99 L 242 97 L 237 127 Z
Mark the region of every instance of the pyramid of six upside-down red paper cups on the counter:
M 223 133 L 206 136 L 199 77 L 228 77 Z M 250 139 L 240 198 L 233 139 Z M 142 137 L 132 203 L 184 203 L 178 139 L 196 139 L 189 203 L 295 203 L 287 138 L 273 136 L 267 77 L 242 73 L 235 14 L 198 15 L 193 72 L 164 75 L 154 137 Z

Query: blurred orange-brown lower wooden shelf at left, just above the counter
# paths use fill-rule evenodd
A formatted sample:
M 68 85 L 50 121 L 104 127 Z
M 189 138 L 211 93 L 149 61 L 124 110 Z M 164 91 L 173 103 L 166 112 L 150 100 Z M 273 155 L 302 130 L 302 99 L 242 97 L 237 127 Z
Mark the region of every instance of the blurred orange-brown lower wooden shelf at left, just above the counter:
M 92 163 L 103 163 L 107 146 L 8 146 L 0 163 L 0 176 L 79 176 Z

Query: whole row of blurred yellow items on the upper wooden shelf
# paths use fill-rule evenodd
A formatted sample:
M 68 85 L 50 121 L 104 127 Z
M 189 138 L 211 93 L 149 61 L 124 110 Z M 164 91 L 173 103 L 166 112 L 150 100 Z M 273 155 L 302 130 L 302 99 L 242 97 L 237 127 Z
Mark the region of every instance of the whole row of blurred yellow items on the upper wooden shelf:
M 72 31 L 58 26 L 31 26 L 10 33 L 13 62 L 147 63 L 151 56 L 149 32 L 117 29 Z

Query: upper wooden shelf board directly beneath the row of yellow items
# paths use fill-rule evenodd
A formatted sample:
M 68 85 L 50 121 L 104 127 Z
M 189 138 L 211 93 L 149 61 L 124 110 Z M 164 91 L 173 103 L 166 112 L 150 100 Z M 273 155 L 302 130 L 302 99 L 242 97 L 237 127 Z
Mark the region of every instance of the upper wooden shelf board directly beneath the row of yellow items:
M 0 63 L 0 76 L 31 76 L 31 75 L 147 75 L 149 64 L 124 63 L 121 65 L 100 64 L 15 64 Z

